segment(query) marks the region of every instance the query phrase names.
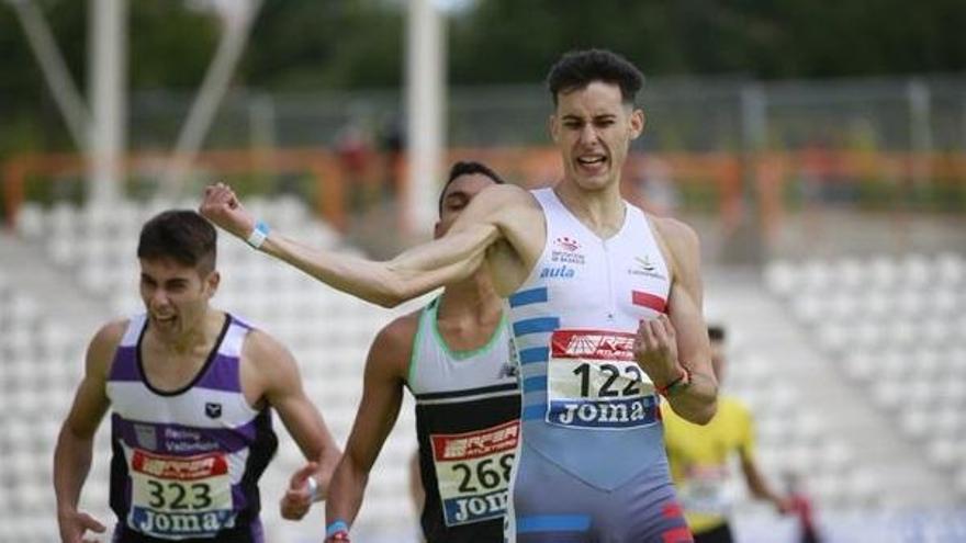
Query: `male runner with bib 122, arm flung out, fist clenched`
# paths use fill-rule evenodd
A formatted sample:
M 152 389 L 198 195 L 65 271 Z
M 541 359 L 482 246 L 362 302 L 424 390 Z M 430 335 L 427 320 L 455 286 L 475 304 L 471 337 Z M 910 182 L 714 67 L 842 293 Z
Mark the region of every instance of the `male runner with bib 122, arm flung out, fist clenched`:
M 715 414 L 698 238 L 620 196 L 644 128 L 637 68 L 610 52 L 550 70 L 553 188 L 492 186 L 450 231 L 387 262 L 315 250 L 256 222 L 232 190 L 205 190 L 215 224 L 319 281 L 393 306 L 481 267 L 508 298 L 523 385 L 507 536 L 525 542 L 690 541 L 674 497 L 658 395 Z

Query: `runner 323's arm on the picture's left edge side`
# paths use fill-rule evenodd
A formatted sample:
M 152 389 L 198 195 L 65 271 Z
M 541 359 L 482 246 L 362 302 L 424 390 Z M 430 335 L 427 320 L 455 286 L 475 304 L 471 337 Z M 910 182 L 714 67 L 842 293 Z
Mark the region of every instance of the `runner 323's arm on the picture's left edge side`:
M 77 510 L 80 490 L 90 472 L 94 433 L 110 401 L 105 393 L 108 369 L 124 333 L 123 323 L 101 328 L 88 344 L 85 375 L 70 412 L 60 427 L 54 449 L 54 493 L 57 497 L 57 523 L 60 541 L 80 543 L 87 530 L 102 533 L 105 527 L 88 513 Z

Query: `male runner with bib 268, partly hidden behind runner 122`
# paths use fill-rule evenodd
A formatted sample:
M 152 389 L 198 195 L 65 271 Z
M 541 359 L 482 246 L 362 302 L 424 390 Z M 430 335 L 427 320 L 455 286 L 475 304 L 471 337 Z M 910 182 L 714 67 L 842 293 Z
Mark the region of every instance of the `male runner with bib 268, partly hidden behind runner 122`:
M 483 189 L 503 180 L 457 162 L 439 196 L 435 236 Z M 519 434 L 519 388 L 503 301 L 480 271 L 383 328 L 369 350 L 362 401 L 333 475 L 329 535 L 355 520 L 369 471 L 392 430 L 403 386 L 416 398 L 423 534 L 429 543 L 503 540 L 506 490 Z

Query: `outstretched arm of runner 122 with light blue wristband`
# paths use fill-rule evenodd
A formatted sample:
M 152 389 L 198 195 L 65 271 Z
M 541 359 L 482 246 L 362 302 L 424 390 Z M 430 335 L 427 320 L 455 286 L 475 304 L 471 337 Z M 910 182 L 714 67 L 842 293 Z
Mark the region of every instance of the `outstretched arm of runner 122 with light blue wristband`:
M 473 199 L 448 235 L 387 262 L 311 248 L 271 229 L 259 248 L 334 289 L 393 307 L 475 272 L 486 249 L 503 237 L 501 216 L 524 194 L 509 185 L 486 189 Z M 256 228 L 256 218 L 232 189 L 221 183 L 205 189 L 200 213 L 242 239 L 250 239 L 256 231 L 266 233 L 265 228 Z

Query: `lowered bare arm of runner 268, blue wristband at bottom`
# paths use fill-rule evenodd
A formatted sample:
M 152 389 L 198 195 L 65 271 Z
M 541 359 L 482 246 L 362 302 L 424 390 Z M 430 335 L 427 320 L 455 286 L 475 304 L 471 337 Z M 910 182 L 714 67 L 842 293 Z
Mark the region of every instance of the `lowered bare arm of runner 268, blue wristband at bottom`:
M 369 350 L 362 400 L 325 506 L 328 525 L 344 522 L 348 531 L 362 506 L 369 471 L 400 414 L 416 320 L 416 315 L 396 319 L 379 332 Z

